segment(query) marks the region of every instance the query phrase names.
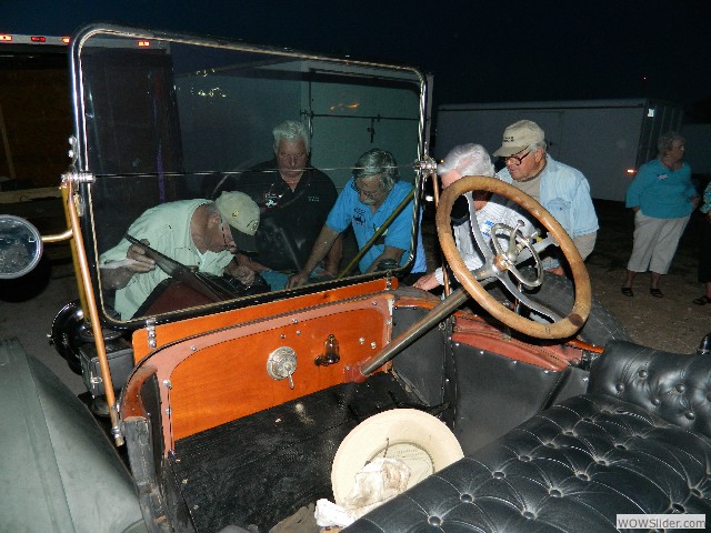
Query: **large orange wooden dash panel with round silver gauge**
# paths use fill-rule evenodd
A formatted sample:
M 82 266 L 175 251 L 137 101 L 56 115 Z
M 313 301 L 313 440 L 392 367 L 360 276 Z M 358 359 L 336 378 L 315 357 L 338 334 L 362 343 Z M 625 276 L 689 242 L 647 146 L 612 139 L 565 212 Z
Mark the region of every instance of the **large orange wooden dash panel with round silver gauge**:
M 178 439 L 354 380 L 353 369 L 391 339 L 393 301 L 392 293 L 380 293 L 329 303 L 156 350 L 139 368 L 157 369 L 166 452 Z M 330 334 L 339 342 L 340 362 L 317 366 Z M 269 355 L 282 346 L 297 353 L 293 390 L 267 373 Z

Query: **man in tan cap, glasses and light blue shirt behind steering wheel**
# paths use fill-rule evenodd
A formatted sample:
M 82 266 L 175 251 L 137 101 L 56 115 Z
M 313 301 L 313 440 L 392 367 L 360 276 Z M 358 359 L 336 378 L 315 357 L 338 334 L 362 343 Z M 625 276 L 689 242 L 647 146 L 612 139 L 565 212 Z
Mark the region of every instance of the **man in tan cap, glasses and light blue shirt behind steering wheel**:
M 599 229 L 590 184 L 580 171 L 555 161 L 545 150 L 545 135 L 535 122 L 514 122 L 504 130 L 501 148 L 493 153 L 505 163 L 497 175 L 550 211 L 585 259 L 595 245 Z M 558 260 L 549 258 L 544 266 L 563 274 Z

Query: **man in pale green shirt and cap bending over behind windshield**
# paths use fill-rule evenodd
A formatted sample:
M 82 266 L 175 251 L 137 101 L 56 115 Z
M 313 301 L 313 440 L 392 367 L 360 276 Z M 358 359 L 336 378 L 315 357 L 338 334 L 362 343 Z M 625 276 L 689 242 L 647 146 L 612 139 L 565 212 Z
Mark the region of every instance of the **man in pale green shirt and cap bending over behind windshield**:
M 244 284 L 254 272 L 234 261 L 234 234 L 253 235 L 259 228 L 259 208 L 247 194 L 224 192 L 214 202 L 179 200 L 147 210 L 128 234 L 199 272 L 228 273 Z M 156 268 L 138 244 L 122 239 L 99 258 L 103 289 L 116 289 L 114 309 L 129 320 L 158 284 L 169 275 Z M 139 275 L 137 275 L 139 274 Z

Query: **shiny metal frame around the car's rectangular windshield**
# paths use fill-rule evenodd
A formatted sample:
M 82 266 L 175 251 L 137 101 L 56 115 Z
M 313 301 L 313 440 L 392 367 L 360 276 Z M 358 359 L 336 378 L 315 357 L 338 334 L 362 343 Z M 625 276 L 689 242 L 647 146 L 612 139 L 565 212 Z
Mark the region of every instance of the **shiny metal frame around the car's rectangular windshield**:
M 151 322 L 156 323 L 164 323 L 172 322 L 177 320 L 182 320 L 186 318 L 202 315 L 206 313 L 216 313 L 227 309 L 234 309 L 247 305 L 254 305 L 259 303 L 263 303 L 267 301 L 272 301 L 277 299 L 291 298 L 292 295 L 301 295 L 306 293 L 324 291 L 334 289 L 338 286 L 344 286 L 352 284 L 354 282 L 364 282 L 369 280 L 373 280 L 377 278 L 383 276 L 392 276 L 398 275 L 403 272 L 407 272 L 408 265 L 404 268 L 388 271 L 388 272 L 374 272 L 369 274 L 358 274 L 358 275 L 348 275 L 342 279 L 337 279 L 332 281 L 321 282 L 314 285 L 304 285 L 297 290 L 289 291 L 274 291 L 263 294 L 256 294 L 243 296 L 234 300 L 221 301 L 210 304 L 199 304 L 194 306 L 189 306 L 187 309 L 180 309 L 177 311 L 160 313 L 157 315 L 146 315 L 137 319 L 128 319 L 120 320 L 117 318 L 114 313 L 111 312 L 110 305 L 107 303 L 104 299 L 104 293 L 101 290 L 102 286 L 102 276 L 100 273 L 99 263 L 101 250 L 99 245 L 98 231 L 99 223 L 97 222 L 97 212 L 99 210 L 97 203 L 97 188 L 101 183 L 101 179 L 103 178 L 101 172 L 97 172 L 96 161 L 92 161 L 92 150 L 96 147 L 92 147 L 93 132 L 91 131 L 91 124 L 89 120 L 92 117 L 92 109 L 90 102 L 88 101 L 87 95 L 89 91 L 87 90 L 87 80 L 84 79 L 86 74 L 86 57 L 89 47 L 92 46 L 96 39 L 101 38 L 116 38 L 118 40 L 127 39 L 130 41 L 150 41 L 151 44 L 158 44 L 160 47 L 201 47 L 201 49 L 211 49 L 216 50 L 218 53 L 246 53 L 246 54 L 257 54 L 263 56 L 267 59 L 274 60 L 279 59 L 282 61 L 302 61 L 310 62 L 313 64 L 322 66 L 324 70 L 338 70 L 339 76 L 343 79 L 347 79 L 350 76 L 353 76 L 354 79 L 358 77 L 363 77 L 363 72 L 369 70 L 381 71 L 383 73 L 391 74 L 394 79 L 398 77 L 403 77 L 408 80 L 417 80 L 419 95 L 417 99 L 417 131 L 418 131 L 418 140 L 417 147 L 412 147 L 413 153 L 415 153 L 415 158 L 413 162 L 399 161 L 400 168 L 409 167 L 412 172 L 412 183 L 415 191 L 421 191 L 422 188 L 422 171 L 420 170 L 420 165 L 415 164 L 417 161 L 422 161 L 427 153 L 427 143 L 428 139 L 428 129 L 430 124 L 429 113 L 430 110 L 428 108 L 428 79 L 427 77 L 420 72 L 418 69 L 413 67 L 400 66 L 400 64 L 391 64 L 391 63 L 380 63 L 372 61 L 356 61 L 350 57 L 339 58 L 336 56 L 326 56 L 326 54 L 316 54 L 312 52 L 303 52 L 297 51 L 287 48 L 276 48 L 268 46 L 256 46 L 249 44 L 241 41 L 229 41 L 224 39 L 217 38 L 203 38 L 191 34 L 182 34 L 182 33 L 172 33 L 172 32 L 158 32 L 151 31 L 140 28 L 126 28 L 113 24 L 90 24 L 80 29 L 77 34 L 71 40 L 70 47 L 70 67 L 72 72 L 72 100 L 73 100 L 73 118 L 74 118 L 74 163 L 73 170 L 77 173 L 89 177 L 86 180 L 82 180 L 79 191 L 80 191 L 80 202 L 82 203 L 83 209 L 81 210 L 81 231 L 87 242 L 87 254 L 88 254 L 88 263 L 90 265 L 90 272 L 92 276 L 92 283 L 94 286 L 94 293 L 97 296 L 97 302 L 99 303 L 99 312 L 101 315 L 101 320 L 103 323 L 110 324 L 112 328 L 118 329 L 134 329 L 136 326 L 143 326 L 147 323 L 147 320 L 151 320 Z M 354 73 L 351 73 L 354 72 Z M 96 137 L 96 135 L 94 135 Z M 410 247 L 410 263 L 412 260 L 413 252 L 415 247 L 415 239 L 419 232 L 419 222 L 420 217 L 415 217 L 414 213 L 420 212 L 420 194 L 414 194 L 414 210 L 413 210 L 413 224 L 412 224 L 412 234 L 411 241 L 412 244 Z M 346 262 L 343 263 L 346 264 Z

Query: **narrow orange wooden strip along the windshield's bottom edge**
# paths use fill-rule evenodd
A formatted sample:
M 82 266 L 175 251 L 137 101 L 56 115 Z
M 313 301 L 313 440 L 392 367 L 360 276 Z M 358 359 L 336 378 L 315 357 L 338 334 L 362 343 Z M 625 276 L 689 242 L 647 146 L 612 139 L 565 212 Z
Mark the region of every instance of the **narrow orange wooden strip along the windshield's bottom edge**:
M 390 288 L 395 288 L 397 282 L 397 279 L 392 279 Z M 339 300 L 362 296 L 363 294 L 380 292 L 387 289 L 388 280 L 378 279 L 313 294 L 304 294 L 302 296 L 252 305 L 250 308 L 233 309 L 208 316 L 197 316 L 193 319 L 182 320 L 180 322 L 161 324 L 156 326 L 156 341 L 158 346 L 162 346 L 170 342 L 197 335 L 206 331 L 249 322 L 266 316 L 276 316 L 293 312 L 297 309 L 311 308 Z M 138 363 L 147 356 L 151 350 L 153 349 L 148 345 L 148 331 L 146 329 L 137 330 L 133 333 L 133 361 Z

